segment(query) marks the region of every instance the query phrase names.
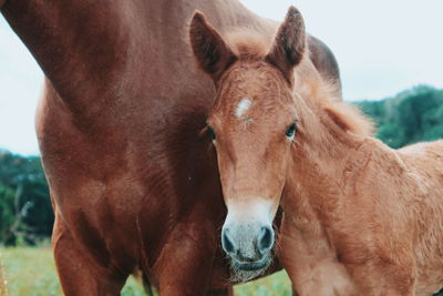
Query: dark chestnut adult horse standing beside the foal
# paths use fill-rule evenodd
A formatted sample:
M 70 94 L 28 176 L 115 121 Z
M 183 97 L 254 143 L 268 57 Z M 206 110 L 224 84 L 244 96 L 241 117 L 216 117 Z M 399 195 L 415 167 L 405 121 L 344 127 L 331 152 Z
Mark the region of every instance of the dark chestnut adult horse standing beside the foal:
M 216 155 L 200 133 L 215 90 L 185 38 L 195 9 L 219 30 L 276 29 L 235 0 L 2 3 L 48 78 L 37 132 L 66 295 L 115 295 L 136 268 L 162 295 L 230 285 Z M 330 51 L 309 42 L 339 81 Z

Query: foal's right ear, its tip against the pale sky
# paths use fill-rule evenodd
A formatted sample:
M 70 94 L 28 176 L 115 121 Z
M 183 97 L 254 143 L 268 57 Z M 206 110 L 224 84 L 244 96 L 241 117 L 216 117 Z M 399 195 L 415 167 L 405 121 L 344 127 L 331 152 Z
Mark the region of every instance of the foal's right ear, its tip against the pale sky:
M 276 65 L 291 83 L 292 70 L 301 61 L 306 48 L 305 22 L 300 11 L 290 7 L 277 31 L 266 60 Z

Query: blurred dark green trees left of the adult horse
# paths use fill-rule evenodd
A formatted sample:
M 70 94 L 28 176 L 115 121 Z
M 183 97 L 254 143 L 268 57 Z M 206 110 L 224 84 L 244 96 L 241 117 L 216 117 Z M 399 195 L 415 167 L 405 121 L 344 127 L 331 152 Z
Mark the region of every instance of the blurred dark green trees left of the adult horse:
M 0 151 L 0 243 L 39 244 L 51 235 L 52 224 L 40 159 Z

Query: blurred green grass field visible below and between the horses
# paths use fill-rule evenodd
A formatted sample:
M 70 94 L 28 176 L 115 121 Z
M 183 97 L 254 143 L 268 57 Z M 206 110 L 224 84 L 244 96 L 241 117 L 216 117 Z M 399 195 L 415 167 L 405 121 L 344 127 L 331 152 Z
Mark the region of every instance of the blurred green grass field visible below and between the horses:
M 10 296 L 63 295 L 56 277 L 50 248 L 0 248 L 0 258 Z M 291 295 L 285 273 L 235 287 L 239 296 Z M 123 288 L 124 296 L 142 296 L 142 286 L 130 278 Z

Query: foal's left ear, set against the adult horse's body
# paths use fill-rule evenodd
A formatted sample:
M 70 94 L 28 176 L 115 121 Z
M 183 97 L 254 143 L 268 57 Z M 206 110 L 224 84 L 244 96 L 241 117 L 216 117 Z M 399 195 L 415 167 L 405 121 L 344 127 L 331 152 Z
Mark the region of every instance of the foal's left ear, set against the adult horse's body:
M 189 37 L 198 65 L 217 82 L 237 57 L 199 11 L 190 21 Z

